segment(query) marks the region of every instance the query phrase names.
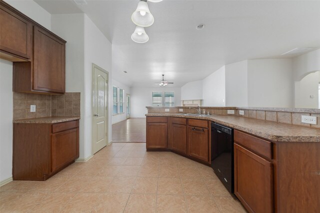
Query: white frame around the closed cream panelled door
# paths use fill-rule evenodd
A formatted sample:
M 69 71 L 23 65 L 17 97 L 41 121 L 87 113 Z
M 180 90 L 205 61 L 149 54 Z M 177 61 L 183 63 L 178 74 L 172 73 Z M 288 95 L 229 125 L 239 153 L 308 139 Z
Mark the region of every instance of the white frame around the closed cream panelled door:
M 93 140 L 93 130 L 94 130 L 94 128 L 93 128 L 93 125 L 94 125 L 94 116 L 93 116 L 93 114 L 94 114 L 94 106 L 93 106 L 93 98 L 94 98 L 94 96 L 93 96 L 93 93 L 94 93 L 94 68 L 97 68 L 97 69 L 99 69 L 100 71 L 102 71 L 102 72 L 104 72 L 105 74 L 106 74 L 106 85 L 107 85 L 107 87 L 106 87 L 106 115 L 107 115 L 107 122 L 106 122 L 106 133 L 107 133 L 107 136 L 109 137 L 109 72 L 108 71 L 106 71 L 105 69 L 103 69 L 103 68 L 101 68 L 101 67 L 99 67 L 98 65 L 96 65 L 96 64 L 94 64 L 94 63 L 92 63 L 92 86 L 91 86 L 91 91 L 92 91 L 92 99 L 91 99 L 91 108 L 92 108 L 92 112 L 91 112 L 91 116 L 92 116 L 92 125 L 91 125 L 91 132 L 92 132 L 92 134 L 91 134 L 91 155 L 93 156 L 93 152 L 94 152 L 94 150 L 93 150 L 93 143 L 95 143 L 94 142 L 94 140 Z M 109 139 L 107 138 L 106 139 L 107 141 L 106 141 L 106 145 L 108 145 L 108 143 L 109 143 Z

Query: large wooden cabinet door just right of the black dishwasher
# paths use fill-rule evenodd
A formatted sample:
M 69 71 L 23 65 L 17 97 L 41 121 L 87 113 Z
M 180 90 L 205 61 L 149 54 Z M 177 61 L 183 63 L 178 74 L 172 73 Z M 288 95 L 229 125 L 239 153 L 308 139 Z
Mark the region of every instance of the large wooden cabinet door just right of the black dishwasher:
M 248 212 L 273 212 L 272 164 L 234 144 L 234 194 Z

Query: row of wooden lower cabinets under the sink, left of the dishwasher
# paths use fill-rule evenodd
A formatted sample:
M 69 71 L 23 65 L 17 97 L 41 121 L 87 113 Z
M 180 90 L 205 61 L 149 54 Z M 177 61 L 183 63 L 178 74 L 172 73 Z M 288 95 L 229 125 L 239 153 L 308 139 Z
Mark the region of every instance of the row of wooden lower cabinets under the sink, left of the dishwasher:
M 193 126 L 190 126 L 193 125 Z M 210 134 L 207 120 L 146 117 L 146 149 L 172 150 L 209 164 Z

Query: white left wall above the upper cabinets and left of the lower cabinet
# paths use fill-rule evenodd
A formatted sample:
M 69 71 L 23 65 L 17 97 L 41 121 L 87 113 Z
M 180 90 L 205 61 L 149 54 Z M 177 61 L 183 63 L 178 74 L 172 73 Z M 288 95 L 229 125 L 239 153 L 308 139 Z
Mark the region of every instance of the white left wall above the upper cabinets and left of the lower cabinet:
M 32 0 L 5 0 L 23 14 L 51 28 L 51 15 Z M 0 60 L 0 181 L 12 177 L 12 63 Z M 5 133 L 5 134 L 4 134 Z

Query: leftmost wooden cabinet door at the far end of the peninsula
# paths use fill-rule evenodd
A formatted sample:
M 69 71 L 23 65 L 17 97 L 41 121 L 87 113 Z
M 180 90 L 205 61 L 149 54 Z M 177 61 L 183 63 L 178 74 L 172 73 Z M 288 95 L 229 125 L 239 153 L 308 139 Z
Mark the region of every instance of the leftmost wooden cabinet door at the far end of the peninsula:
M 167 124 L 146 124 L 146 148 L 167 148 Z

